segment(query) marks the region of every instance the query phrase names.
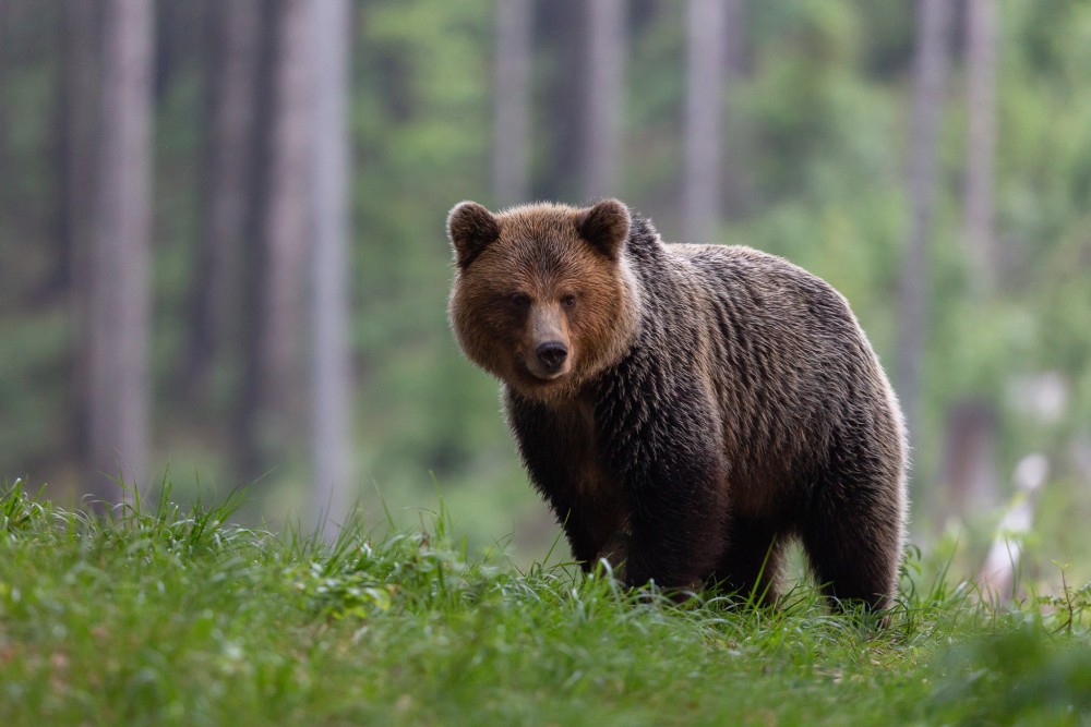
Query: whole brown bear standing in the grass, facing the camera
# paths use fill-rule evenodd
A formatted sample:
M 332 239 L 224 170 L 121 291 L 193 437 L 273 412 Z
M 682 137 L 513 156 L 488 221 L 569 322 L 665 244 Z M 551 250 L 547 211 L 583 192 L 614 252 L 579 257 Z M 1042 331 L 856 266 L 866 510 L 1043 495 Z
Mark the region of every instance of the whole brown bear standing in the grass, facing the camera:
M 664 244 L 615 199 L 451 210 L 451 322 L 503 384 L 585 568 L 777 597 L 799 538 L 835 604 L 889 605 L 906 520 L 894 391 L 846 300 L 743 246 Z

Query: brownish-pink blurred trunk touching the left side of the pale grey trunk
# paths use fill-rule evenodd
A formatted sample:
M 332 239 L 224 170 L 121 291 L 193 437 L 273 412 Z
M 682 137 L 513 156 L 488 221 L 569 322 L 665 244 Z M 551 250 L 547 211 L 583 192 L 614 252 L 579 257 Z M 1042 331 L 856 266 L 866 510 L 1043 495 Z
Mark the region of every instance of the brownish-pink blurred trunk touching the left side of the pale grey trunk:
M 259 152 L 248 226 L 248 346 L 238 453 L 244 477 L 297 443 L 303 389 L 302 325 L 311 217 L 313 32 L 307 0 L 264 7 L 256 84 Z

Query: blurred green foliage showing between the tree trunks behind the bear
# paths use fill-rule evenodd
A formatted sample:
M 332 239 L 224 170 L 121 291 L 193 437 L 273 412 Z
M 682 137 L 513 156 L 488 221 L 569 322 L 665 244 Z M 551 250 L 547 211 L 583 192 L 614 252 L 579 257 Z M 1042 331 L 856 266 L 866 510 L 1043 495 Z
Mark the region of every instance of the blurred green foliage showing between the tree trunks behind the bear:
M 58 255 L 59 4 L 12 3 L 0 26 L 0 471 L 64 486 L 76 461 L 80 407 L 74 299 L 49 287 Z M 726 157 L 741 203 L 717 241 L 784 255 L 828 279 L 891 368 L 908 218 L 915 5 L 750 0 L 745 7 L 744 63 L 724 100 Z M 476 543 L 511 532 L 532 532 L 528 542 L 540 543 L 552 531 L 528 524 L 540 523 L 543 509 L 525 485 L 497 387 L 460 355 L 445 312 L 452 274 L 444 216 L 459 199 L 493 198 L 494 3 L 361 0 L 355 8 L 352 341 L 361 497 L 379 511 L 377 487 L 395 511 L 421 506 L 434 501 L 434 476 Z M 1064 529 L 1076 526 L 1062 517 L 1066 507 L 1087 509 L 1089 475 L 1071 452 L 1086 452 L 1091 439 L 1091 2 L 1002 0 L 998 8 L 1002 284 L 985 298 L 968 293 L 964 17 L 957 13 L 930 249 L 914 499 L 936 501 L 949 407 L 981 398 L 999 413 L 999 472 L 1029 451 L 1044 451 L 1062 501 L 1079 502 L 1051 506 L 1060 542 Z M 615 194 L 673 240 L 681 227 L 685 3 L 642 0 L 631 9 L 623 181 Z M 203 482 L 227 489 L 236 483 L 224 439 L 209 433 L 223 426 L 238 373 L 224 364 L 211 402 L 185 400 L 173 378 L 184 353 L 189 291 L 200 284 L 192 272 L 204 98 L 199 31 L 194 12 L 176 12 L 159 28 L 171 53 L 160 59 L 158 78 L 155 437 L 161 460 L 175 463 L 179 488 L 199 471 Z M 542 141 L 547 110 L 578 102 L 575 93 L 546 95 L 558 86 L 547 83 L 555 71 L 548 64 L 566 43 L 563 35 L 536 39 L 536 190 L 553 180 L 543 160 L 554 152 Z M 577 186 L 568 179 L 544 192 L 561 196 Z M 1014 381 L 1046 373 L 1059 376 L 1066 393 L 1053 419 L 1028 413 L 1011 395 Z M 263 512 L 277 517 L 300 501 L 303 467 L 287 461 L 255 486 L 271 493 Z M 1055 497 L 1062 495 L 1051 493 L 1048 501 Z M 915 513 L 924 533 L 940 519 Z

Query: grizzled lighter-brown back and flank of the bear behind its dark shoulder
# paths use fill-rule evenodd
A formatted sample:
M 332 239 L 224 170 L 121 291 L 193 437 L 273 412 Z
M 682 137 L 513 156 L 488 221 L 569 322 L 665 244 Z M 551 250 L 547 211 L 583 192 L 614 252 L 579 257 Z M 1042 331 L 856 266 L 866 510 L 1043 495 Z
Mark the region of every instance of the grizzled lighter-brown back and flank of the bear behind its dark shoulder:
M 686 322 L 672 344 L 709 360 L 698 369 L 720 402 L 736 475 L 755 485 L 755 509 L 771 506 L 757 501 L 763 493 L 777 492 L 763 481 L 820 467 L 841 433 L 862 420 L 887 419 L 888 436 L 902 436 L 895 415 L 863 403 L 889 402 L 889 386 L 832 287 L 750 247 L 664 244 L 663 252 L 673 284 L 658 290 L 679 300 L 650 307 L 659 308 L 657 315 L 664 307 L 684 310 Z

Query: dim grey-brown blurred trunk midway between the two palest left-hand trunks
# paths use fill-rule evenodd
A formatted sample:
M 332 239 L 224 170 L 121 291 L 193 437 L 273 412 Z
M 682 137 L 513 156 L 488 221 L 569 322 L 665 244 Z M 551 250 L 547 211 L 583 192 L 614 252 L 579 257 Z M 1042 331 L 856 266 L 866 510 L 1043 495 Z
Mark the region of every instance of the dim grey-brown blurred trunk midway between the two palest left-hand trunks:
M 208 0 L 205 63 L 203 230 L 190 299 L 189 359 L 182 378 L 189 391 L 207 386 L 212 365 L 228 341 L 238 340 L 235 312 L 243 251 L 255 140 L 254 95 L 261 40 L 261 0 Z

